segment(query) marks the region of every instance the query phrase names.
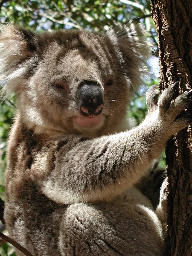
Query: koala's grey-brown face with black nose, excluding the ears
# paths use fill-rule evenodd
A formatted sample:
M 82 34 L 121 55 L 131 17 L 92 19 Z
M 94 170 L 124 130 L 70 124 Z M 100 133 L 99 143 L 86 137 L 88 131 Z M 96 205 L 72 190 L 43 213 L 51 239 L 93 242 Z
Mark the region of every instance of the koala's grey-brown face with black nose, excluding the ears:
M 27 104 L 28 115 L 31 109 L 43 126 L 59 131 L 92 134 L 114 126 L 125 116 L 131 87 L 112 43 L 89 32 L 59 37 L 45 46 L 27 91 L 19 93 L 20 110 Z

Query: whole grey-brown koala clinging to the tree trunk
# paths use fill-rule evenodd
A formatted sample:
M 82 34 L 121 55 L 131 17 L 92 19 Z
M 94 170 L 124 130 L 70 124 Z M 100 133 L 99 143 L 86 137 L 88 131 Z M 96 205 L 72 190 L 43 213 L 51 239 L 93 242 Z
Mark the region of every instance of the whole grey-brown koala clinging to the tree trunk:
M 157 210 L 138 183 L 191 124 L 178 116 L 191 92 L 178 96 L 176 83 L 158 99 L 150 87 L 148 114 L 131 129 L 128 105 L 151 52 L 140 24 L 1 31 L 3 94 L 14 93 L 17 108 L 7 149 L 10 236 L 33 256 L 163 256 L 166 180 Z

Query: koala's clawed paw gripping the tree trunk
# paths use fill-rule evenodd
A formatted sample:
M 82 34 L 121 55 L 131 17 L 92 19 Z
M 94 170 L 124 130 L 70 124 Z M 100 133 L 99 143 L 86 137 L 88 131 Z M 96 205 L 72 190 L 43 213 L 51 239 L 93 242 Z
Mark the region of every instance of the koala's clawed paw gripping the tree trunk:
M 192 102 L 192 90 L 177 96 L 178 84 L 177 81 L 172 87 L 164 90 L 159 100 L 156 87 L 150 87 L 146 93 L 149 113 L 157 111 L 155 114 L 158 116 L 161 126 L 170 131 L 171 135 L 192 124 L 192 115 L 187 115 L 184 112 L 180 114 Z

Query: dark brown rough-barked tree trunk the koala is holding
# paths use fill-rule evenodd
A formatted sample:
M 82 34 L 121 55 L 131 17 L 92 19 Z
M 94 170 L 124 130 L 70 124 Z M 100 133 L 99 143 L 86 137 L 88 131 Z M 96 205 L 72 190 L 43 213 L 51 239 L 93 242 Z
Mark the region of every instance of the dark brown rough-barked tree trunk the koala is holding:
M 151 0 L 157 28 L 160 89 L 180 80 L 192 86 L 192 0 Z M 192 107 L 187 111 L 192 113 Z M 169 178 L 166 256 L 192 256 L 192 135 L 185 129 L 167 143 Z

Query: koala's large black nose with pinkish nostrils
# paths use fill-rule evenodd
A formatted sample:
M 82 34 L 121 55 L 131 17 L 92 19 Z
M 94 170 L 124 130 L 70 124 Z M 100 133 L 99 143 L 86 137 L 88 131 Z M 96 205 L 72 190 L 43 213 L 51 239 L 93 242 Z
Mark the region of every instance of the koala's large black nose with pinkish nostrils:
M 98 116 L 102 113 L 102 90 L 95 82 L 86 81 L 77 91 L 79 111 L 84 116 Z

